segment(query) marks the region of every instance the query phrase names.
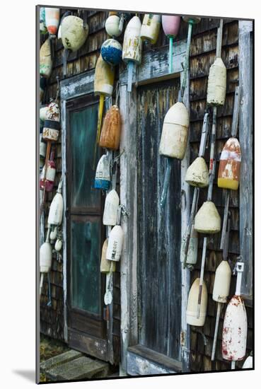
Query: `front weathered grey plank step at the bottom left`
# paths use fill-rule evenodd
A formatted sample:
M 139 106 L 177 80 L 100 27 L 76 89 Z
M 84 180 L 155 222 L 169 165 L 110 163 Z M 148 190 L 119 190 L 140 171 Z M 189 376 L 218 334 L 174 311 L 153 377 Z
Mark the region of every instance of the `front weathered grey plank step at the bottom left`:
M 76 381 L 83 378 L 107 377 L 108 370 L 108 363 L 80 356 L 46 370 L 45 374 L 52 381 Z

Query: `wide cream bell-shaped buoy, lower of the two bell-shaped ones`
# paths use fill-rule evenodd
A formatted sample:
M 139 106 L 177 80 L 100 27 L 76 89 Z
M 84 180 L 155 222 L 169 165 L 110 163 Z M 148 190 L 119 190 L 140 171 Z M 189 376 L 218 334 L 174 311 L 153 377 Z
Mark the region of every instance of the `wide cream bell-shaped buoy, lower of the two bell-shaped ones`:
M 195 230 L 199 233 L 218 233 L 221 219 L 214 202 L 204 202 L 195 216 Z

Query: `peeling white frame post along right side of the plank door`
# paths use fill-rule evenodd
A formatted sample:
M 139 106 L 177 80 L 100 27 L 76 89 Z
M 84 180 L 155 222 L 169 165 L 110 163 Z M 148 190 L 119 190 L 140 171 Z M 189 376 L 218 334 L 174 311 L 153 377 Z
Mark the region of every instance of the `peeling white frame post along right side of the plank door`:
M 180 74 L 180 85 L 182 85 L 182 77 L 184 73 Z M 190 71 L 187 71 L 187 83 L 185 93 L 183 96 L 183 103 L 190 112 Z M 185 236 L 187 224 L 190 221 L 190 185 L 185 182 L 185 174 L 187 168 L 190 166 L 190 137 L 187 141 L 187 150 L 185 157 L 181 161 L 181 237 Z M 182 250 L 182 244 L 181 249 Z M 181 256 L 181 253 L 180 253 Z M 182 371 L 189 371 L 190 367 L 190 326 L 187 325 L 186 310 L 187 310 L 187 296 L 190 291 L 190 271 L 181 266 L 181 361 Z

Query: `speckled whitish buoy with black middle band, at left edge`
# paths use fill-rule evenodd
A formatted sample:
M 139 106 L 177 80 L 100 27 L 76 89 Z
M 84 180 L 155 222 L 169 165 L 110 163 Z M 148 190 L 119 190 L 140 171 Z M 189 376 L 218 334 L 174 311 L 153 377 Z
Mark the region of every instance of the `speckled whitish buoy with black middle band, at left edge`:
M 60 110 L 59 105 L 52 102 L 48 105 L 45 113 L 45 125 L 42 137 L 47 141 L 57 141 L 59 138 Z

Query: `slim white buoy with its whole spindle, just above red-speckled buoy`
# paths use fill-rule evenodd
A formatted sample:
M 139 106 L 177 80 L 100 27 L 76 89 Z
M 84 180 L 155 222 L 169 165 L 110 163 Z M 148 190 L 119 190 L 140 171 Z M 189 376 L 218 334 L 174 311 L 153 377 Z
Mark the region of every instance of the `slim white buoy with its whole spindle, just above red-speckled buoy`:
M 221 304 L 226 303 L 229 294 L 230 284 L 231 284 L 231 267 L 228 264 L 229 231 L 230 231 L 230 221 L 228 221 L 228 229 L 226 231 L 226 239 L 223 248 L 223 260 L 216 268 L 214 288 L 212 294 L 213 300 L 217 302 L 217 312 L 216 312 L 216 325 L 214 331 L 211 361 L 214 361 L 215 359 L 216 340 L 219 331 L 219 318 L 221 312 Z

